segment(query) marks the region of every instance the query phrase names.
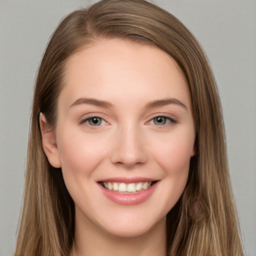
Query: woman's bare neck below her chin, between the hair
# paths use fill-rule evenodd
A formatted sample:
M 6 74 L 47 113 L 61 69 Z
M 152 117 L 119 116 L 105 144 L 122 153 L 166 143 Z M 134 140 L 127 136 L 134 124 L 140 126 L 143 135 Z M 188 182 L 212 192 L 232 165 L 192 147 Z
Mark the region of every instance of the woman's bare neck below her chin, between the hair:
M 161 219 L 147 232 L 119 237 L 99 228 L 75 224 L 73 247 L 70 256 L 165 256 L 166 219 Z

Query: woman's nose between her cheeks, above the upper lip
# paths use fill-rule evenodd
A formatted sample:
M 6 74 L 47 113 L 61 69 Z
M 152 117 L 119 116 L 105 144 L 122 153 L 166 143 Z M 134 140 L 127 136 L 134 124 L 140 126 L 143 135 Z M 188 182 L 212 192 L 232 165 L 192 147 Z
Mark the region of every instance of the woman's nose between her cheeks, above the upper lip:
M 110 160 L 113 164 L 121 164 L 126 168 L 147 161 L 146 146 L 138 127 L 125 127 L 117 130 L 112 144 Z

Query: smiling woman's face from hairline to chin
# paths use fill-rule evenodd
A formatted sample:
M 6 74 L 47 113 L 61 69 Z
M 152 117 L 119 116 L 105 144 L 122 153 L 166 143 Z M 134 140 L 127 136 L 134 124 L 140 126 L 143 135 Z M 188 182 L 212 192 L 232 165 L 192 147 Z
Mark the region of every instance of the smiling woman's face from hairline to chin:
M 47 156 L 62 169 L 76 227 L 133 236 L 162 225 L 194 154 L 189 91 L 175 61 L 155 46 L 99 41 L 68 59 L 57 109 Z

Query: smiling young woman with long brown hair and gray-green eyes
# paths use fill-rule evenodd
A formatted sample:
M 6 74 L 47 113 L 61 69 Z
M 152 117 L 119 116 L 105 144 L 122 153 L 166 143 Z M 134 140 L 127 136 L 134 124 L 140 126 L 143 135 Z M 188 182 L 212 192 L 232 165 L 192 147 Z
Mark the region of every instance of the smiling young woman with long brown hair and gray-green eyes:
M 69 14 L 34 91 L 14 255 L 103 253 L 243 254 L 210 67 L 143 0 Z

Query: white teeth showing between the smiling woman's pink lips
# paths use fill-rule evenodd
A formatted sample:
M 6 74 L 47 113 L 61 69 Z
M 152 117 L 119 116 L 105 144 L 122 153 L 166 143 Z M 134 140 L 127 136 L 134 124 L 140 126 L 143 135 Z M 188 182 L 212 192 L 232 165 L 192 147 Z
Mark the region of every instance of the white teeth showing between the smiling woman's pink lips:
M 103 182 L 100 181 L 99 184 L 103 186 L 105 189 L 110 191 L 118 191 L 121 193 L 136 193 L 141 190 L 146 190 L 150 186 L 154 185 L 157 182 L 155 181 L 141 181 L 141 182 L 133 182 L 133 183 L 124 183 L 124 182 Z

